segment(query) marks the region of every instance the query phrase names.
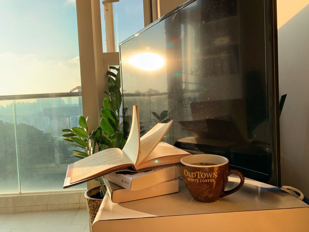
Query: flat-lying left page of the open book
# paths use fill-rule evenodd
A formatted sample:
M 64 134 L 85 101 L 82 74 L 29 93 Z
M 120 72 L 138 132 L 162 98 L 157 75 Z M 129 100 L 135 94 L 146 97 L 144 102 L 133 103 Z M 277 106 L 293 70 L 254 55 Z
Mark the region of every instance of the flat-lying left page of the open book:
M 75 183 L 119 165 L 133 164 L 119 149 L 108 148 L 73 163 L 70 183 Z

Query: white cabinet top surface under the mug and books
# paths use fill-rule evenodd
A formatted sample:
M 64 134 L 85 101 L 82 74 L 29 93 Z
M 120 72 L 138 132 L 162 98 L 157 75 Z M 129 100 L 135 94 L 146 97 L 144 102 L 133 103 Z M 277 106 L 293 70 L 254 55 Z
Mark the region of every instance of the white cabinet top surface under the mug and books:
M 239 178 L 229 177 L 226 189 L 238 185 Z M 308 205 L 280 188 L 246 178 L 243 187 L 214 203 L 193 200 L 182 180 L 179 192 L 121 204 L 105 195 L 95 222 L 129 218 L 164 217 L 189 214 L 226 213 L 266 209 L 302 208 Z

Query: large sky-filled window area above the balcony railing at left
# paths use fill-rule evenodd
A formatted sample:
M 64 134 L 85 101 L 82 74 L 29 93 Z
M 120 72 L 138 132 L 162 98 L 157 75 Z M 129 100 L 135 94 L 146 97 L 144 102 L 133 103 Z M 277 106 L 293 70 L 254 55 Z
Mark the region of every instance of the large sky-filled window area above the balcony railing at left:
M 1 95 L 81 85 L 75 1 L 1 1 L 0 31 Z

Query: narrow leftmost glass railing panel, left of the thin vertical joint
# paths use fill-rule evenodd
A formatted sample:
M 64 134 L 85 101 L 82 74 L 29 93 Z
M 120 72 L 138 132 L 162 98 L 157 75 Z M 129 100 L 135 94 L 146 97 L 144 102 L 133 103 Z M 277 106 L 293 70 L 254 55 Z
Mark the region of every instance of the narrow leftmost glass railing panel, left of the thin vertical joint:
M 0 194 L 19 193 L 13 100 L 0 101 Z

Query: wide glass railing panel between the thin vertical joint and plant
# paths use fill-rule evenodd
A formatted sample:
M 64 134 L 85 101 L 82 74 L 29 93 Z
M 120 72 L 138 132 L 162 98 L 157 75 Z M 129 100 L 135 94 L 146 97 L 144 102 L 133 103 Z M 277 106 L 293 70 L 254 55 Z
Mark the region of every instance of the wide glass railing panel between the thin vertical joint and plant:
M 60 191 L 70 157 L 63 128 L 78 126 L 82 97 L 16 100 L 17 144 L 21 192 Z M 81 184 L 72 189 L 85 189 Z

